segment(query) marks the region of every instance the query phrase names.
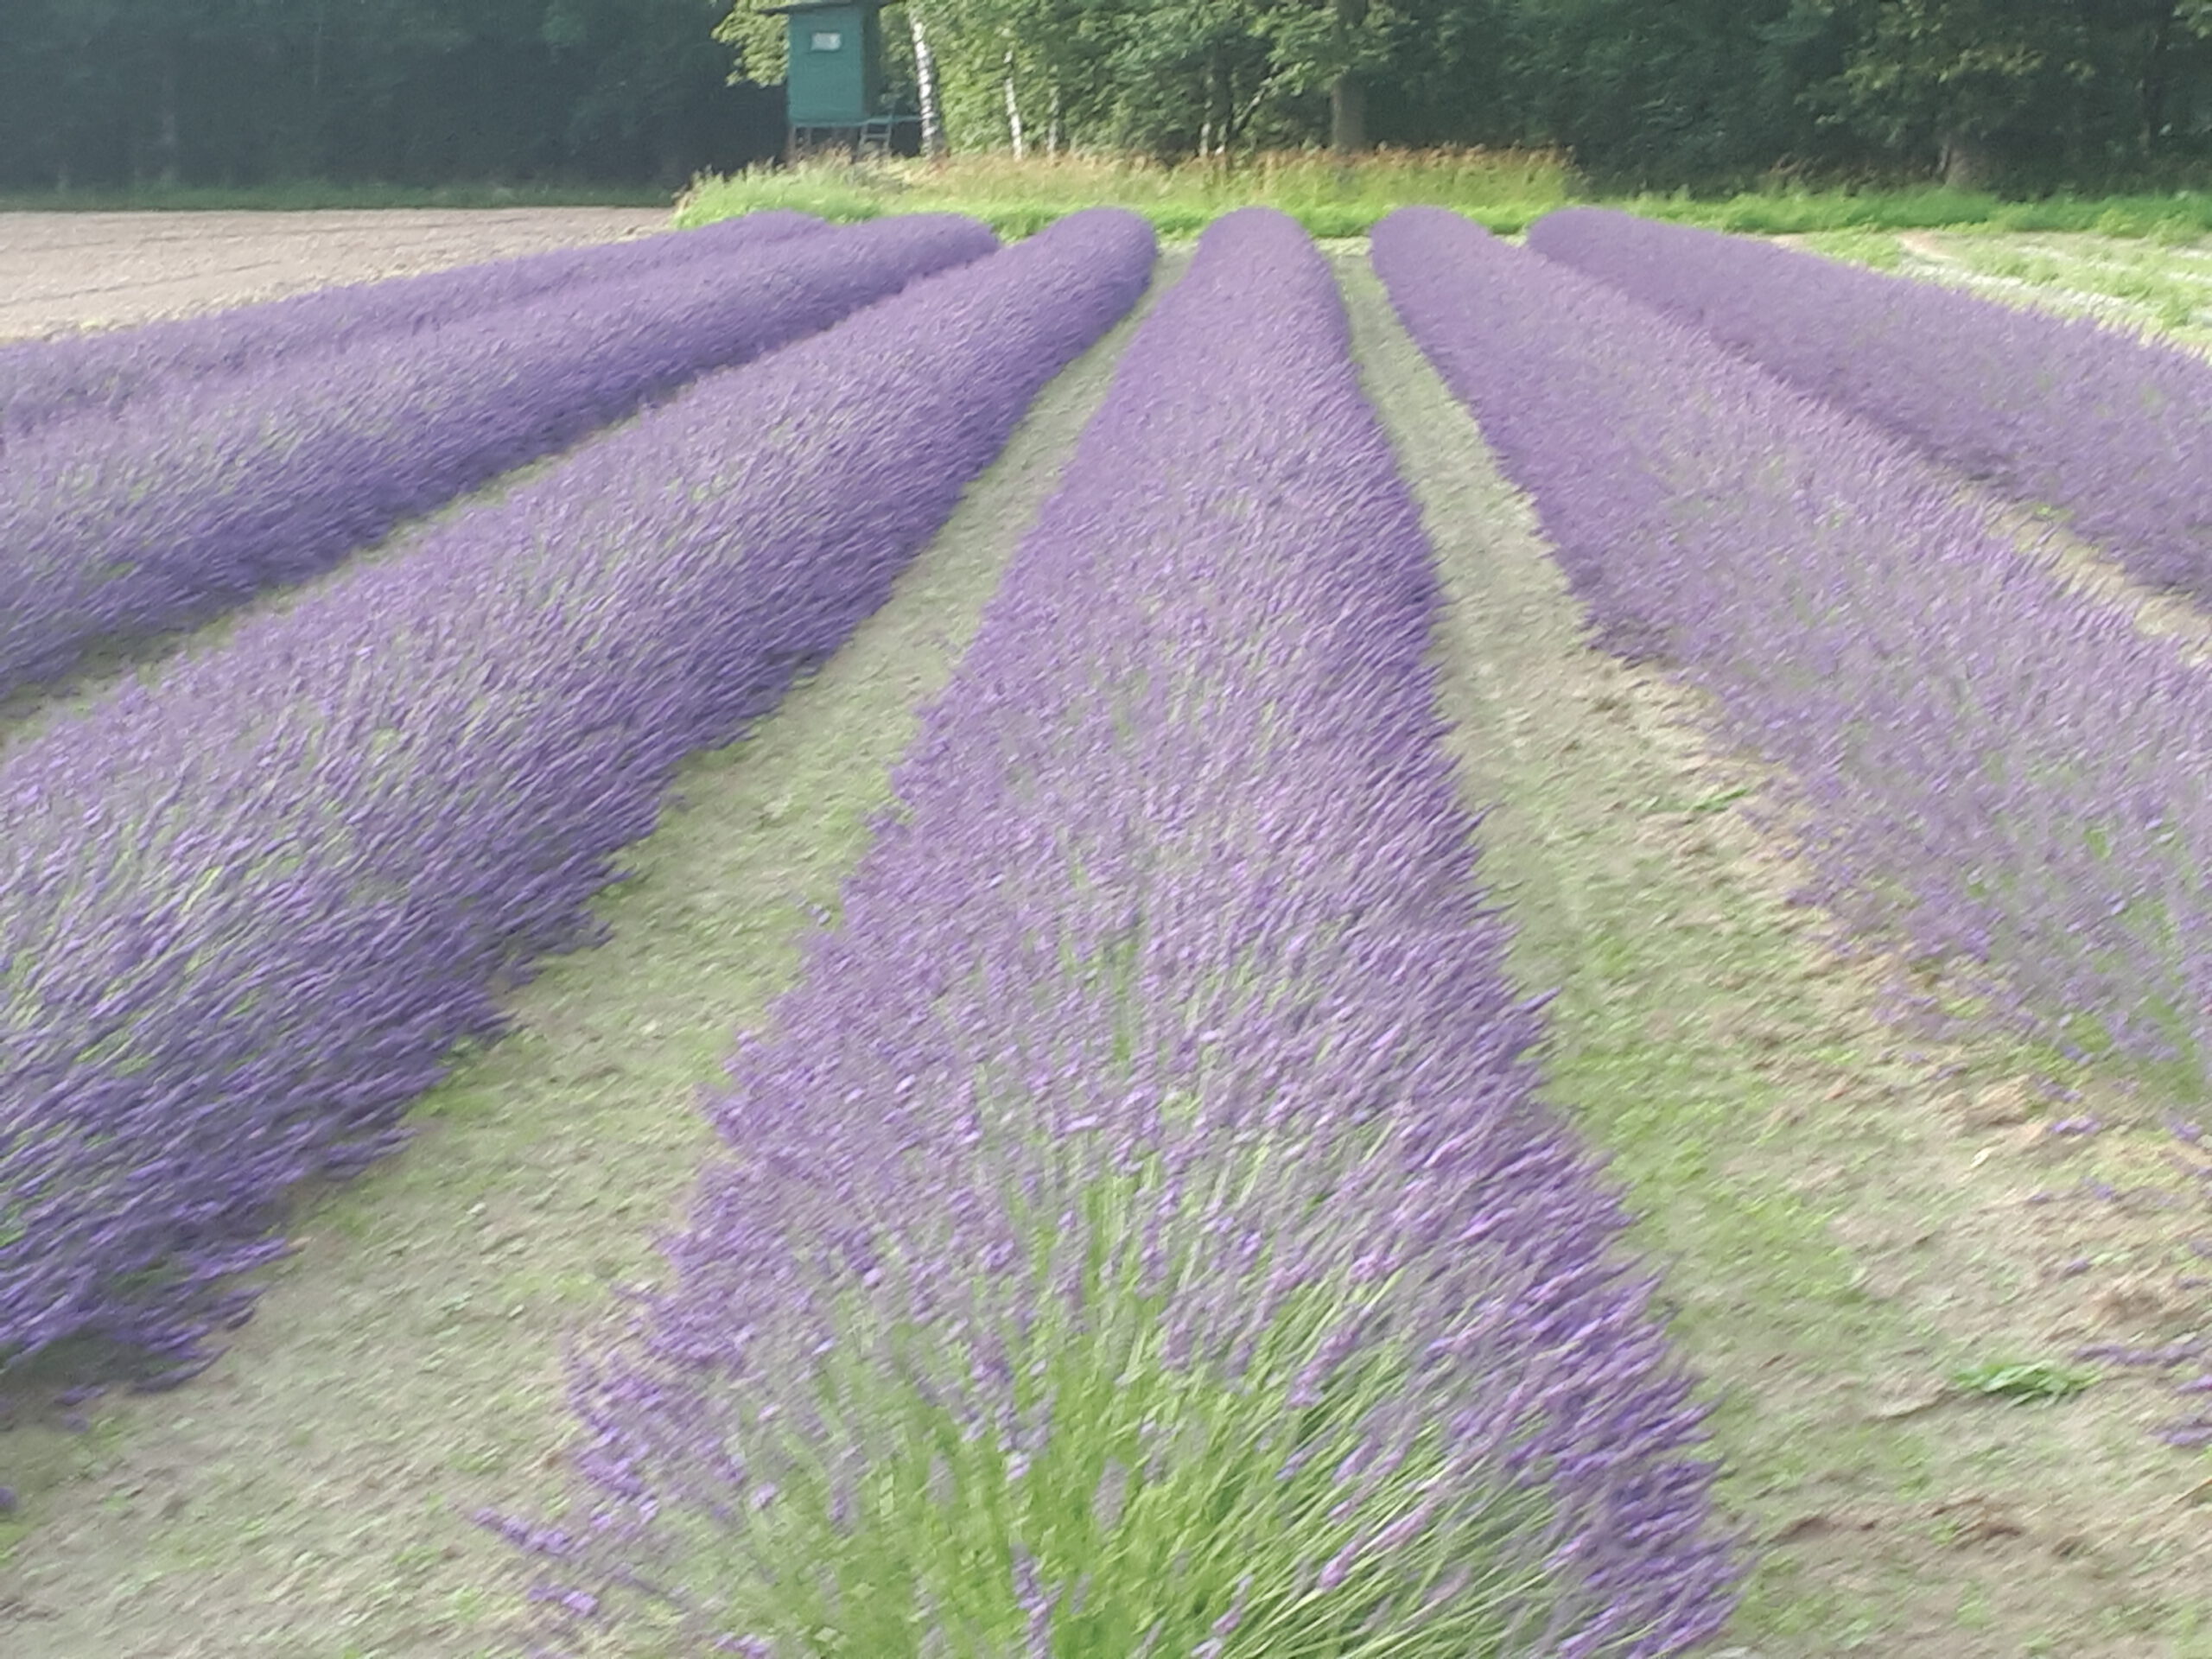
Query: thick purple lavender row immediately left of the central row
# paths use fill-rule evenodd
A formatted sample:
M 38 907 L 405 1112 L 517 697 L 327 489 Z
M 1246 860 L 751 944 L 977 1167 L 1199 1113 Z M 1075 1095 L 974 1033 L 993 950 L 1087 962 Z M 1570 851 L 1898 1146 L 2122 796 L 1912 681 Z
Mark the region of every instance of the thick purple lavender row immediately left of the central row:
M 900 234 L 838 259 L 971 241 Z M 922 281 L 0 759 L 0 1369 L 204 1365 L 281 1194 L 403 1137 L 675 761 L 880 604 L 1150 263 L 1077 215 Z

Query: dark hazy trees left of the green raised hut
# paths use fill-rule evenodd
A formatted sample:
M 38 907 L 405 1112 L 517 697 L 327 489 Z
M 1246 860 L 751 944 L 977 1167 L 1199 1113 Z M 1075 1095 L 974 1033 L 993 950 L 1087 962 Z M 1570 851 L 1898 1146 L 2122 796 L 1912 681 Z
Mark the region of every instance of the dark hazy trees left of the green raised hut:
M 772 153 L 726 0 L 7 0 L 0 188 L 679 184 Z

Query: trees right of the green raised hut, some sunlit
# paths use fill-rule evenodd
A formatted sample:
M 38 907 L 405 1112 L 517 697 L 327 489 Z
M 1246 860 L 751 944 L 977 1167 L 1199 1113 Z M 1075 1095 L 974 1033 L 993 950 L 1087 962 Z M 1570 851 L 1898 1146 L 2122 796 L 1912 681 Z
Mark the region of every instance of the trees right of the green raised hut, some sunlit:
M 781 75 L 781 20 L 759 11 L 770 2 L 737 0 L 723 22 L 763 82 Z M 1774 173 L 2110 186 L 2212 159 L 2212 0 L 907 0 L 900 11 L 898 69 L 953 148 L 1166 159 L 1321 142 L 1544 144 L 1601 181 L 1641 186 Z

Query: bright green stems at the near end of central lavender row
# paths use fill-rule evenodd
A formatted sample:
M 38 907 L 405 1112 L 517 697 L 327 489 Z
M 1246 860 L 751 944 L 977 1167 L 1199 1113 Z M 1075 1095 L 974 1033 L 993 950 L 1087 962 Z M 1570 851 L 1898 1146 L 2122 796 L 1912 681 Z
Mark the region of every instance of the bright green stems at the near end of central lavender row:
M 721 1590 L 717 1617 L 810 1655 L 911 1655 L 929 1628 L 949 1652 L 1004 1652 L 1024 1628 L 1115 1657 L 1206 1652 L 1230 1628 L 1265 1652 L 1495 1650 L 1544 1595 L 1542 1551 L 1517 1542 L 1546 1535 L 1544 1495 L 1469 1491 L 1449 1436 L 1394 1416 L 1418 1369 L 1402 1340 L 1338 1356 L 1305 1391 L 1345 1310 L 1385 1305 L 1380 1281 L 1281 1296 L 1234 1378 L 1179 1360 L 1164 1285 L 1194 1263 L 1161 1287 L 1144 1265 L 1164 1179 L 1157 1164 L 1108 1172 L 1064 1210 L 1020 1214 L 1033 1281 L 1073 1265 L 1079 1294 L 1000 1325 L 978 1281 L 964 1318 L 991 1340 L 973 1354 L 964 1329 L 880 1314 L 880 1285 L 841 1294 L 841 1340 L 794 1427 L 745 1429 L 772 1498 L 684 1522 L 684 1577 Z M 922 1265 L 876 1263 L 880 1283 Z M 962 1418 L 971 1371 L 1009 1389 L 995 1433 Z M 1422 1608 L 1418 1630 L 1369 1628 L 1400 1599 Z

